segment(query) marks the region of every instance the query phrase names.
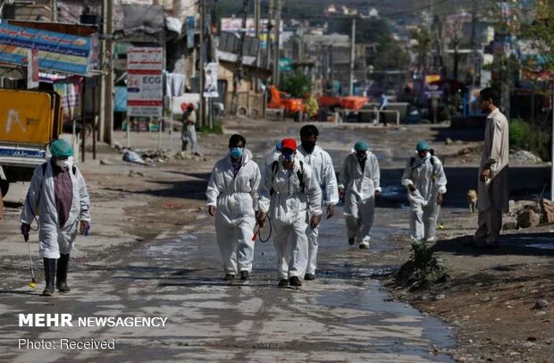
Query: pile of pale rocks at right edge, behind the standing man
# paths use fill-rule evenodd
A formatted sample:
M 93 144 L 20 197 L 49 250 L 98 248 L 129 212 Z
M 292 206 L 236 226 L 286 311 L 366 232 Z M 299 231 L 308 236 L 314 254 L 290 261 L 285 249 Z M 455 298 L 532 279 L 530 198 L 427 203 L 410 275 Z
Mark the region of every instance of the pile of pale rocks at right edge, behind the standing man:
M 502 229 L 531 228 L 554 223 L 554 203 L 548 199 L 539 201 L 510 200 L 509 217 Z

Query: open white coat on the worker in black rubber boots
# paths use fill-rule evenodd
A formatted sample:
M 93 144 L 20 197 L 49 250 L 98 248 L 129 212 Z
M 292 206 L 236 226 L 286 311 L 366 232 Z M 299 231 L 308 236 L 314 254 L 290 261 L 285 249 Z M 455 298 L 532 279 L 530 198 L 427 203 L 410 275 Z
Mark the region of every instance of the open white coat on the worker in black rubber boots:
M 54 172 L 48 159 L 43 173 L 43 165 L 35 168 L 30 181 L 25 206 L 21 211 L 21 223 L 31 224 L 34 215 L 39 211 L 38 251 L 45 258 L 60 258 L 60 254 L 68 255 L 73 250 L 79 222 L 90 222 L 90 198 L 87 185 L 76 166 L 69 168 L 72 186 L 71 209 L 67 221 L 60 228 L 56 208 Z

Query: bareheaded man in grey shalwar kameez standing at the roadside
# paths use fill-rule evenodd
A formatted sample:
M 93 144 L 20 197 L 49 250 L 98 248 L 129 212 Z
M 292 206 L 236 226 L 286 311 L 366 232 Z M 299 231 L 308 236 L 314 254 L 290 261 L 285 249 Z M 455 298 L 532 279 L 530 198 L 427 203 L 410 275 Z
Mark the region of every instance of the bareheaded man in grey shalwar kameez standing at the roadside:
M 499 247 L 502 213 L 508 212 L 508 120 L 497 106 L 498 99 L 491 88 L 483 89 L 479 96 L 479 106 L 489 115 L 479 166 L 479 228 L 473 242 L 484 240 L 485 248 Z

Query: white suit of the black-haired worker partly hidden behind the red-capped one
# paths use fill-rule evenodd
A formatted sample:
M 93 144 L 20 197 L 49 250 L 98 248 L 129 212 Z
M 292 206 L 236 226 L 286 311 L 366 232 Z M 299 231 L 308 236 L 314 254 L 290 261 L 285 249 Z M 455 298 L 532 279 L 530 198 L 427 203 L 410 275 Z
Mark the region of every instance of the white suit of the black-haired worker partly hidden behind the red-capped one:
M 308 154 L 302 146 L 298 147 L 298 154 L 304 156 L 304 163 L 310 165 L 314 172 L 315 181 L 322 190 L 322 207 L 334 206 L 339 203 L 339 190 L 337 187 L 337 176 L 332 165 L 331 156 L 317 145 L 311 154 Z M 319 235 L 319 226 L 309 231 L 308 240 L 308 265 L 306 274 L 315 274 L 317 268 L 317 236 Z

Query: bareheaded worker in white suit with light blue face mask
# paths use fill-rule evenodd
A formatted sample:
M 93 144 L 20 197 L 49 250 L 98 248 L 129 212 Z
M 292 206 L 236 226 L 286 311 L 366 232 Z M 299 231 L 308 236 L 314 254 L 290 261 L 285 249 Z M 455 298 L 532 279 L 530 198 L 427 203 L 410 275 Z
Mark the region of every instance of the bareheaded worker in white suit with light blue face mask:
M 254 257 L 257 190 L 260 169 L 241 135 L 229 139 L 230 152 L 215 163 L 206 196 L 209 215 L 214 217 L 215 234 L 222 253 L 225 280 L 249 280 Z

